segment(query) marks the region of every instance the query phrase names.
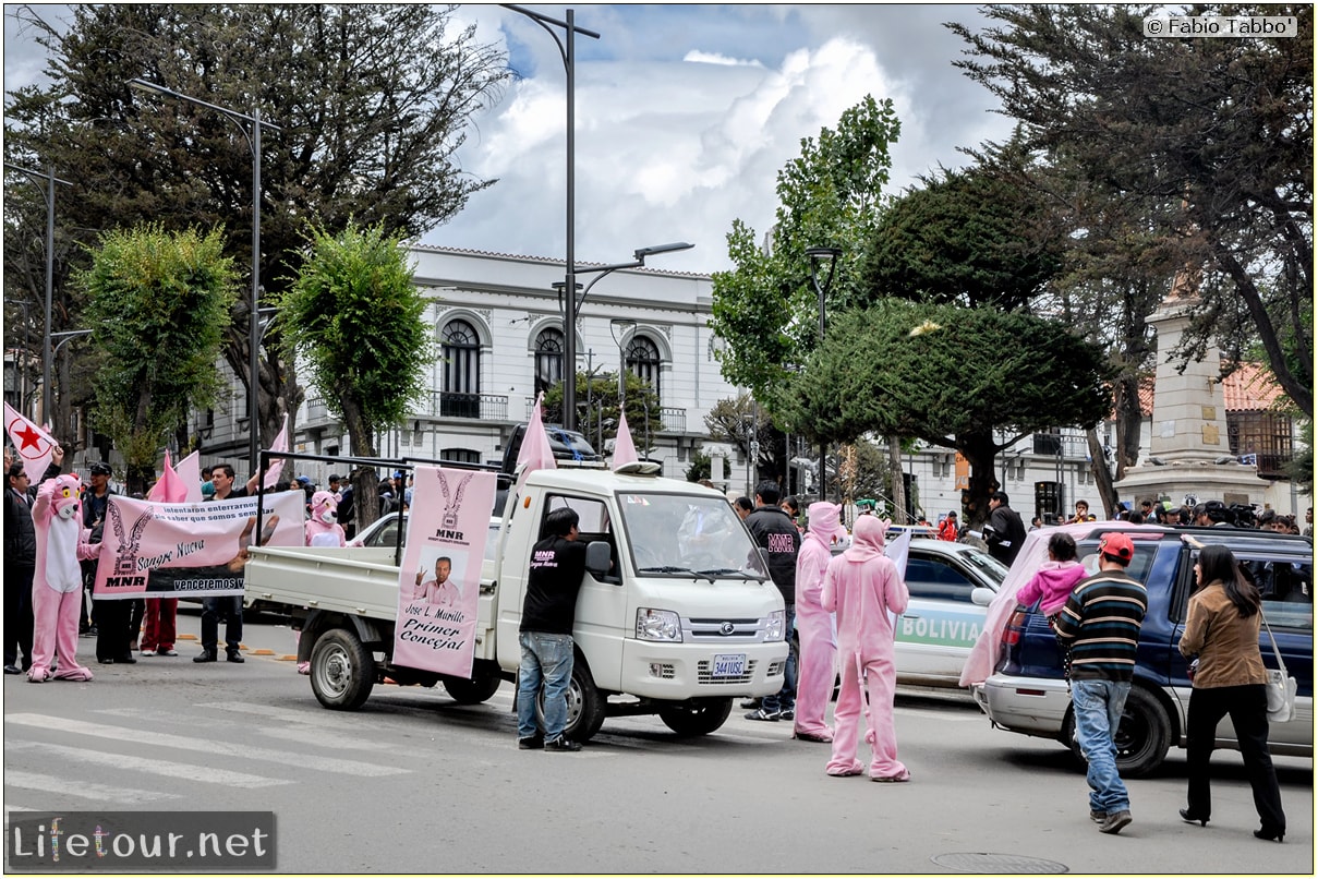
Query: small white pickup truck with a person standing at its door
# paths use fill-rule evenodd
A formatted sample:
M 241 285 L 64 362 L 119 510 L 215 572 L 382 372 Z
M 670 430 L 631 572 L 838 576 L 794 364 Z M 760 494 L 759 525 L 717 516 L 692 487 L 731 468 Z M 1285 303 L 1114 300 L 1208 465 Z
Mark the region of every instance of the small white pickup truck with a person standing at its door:
M 398 567 L 382 547 L 253 547 L 246 598 L 286 605 L 302 631 L 322 705 L 355 709 L 386 677 L 443 683 L 481 702 L 515 680 L 531 547 L 550 510 L 569 506 L 587 542 L 565 734 L 587 741 L 606 716 L 659 714 L 683 735 L 728 720 L 734 698 L 783 684 L 783 598 L 728 499 L 638 463 L 536 470 L 511 494 L 485 561 L 469 680 L 394 666 Z

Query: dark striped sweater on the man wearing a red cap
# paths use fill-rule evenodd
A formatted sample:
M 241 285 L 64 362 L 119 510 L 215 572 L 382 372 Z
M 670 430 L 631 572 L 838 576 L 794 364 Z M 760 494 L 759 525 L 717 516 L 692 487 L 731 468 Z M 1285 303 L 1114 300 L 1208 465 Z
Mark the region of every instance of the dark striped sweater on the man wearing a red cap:
M 1124 571 L 1101 571 L 1075 584 L 1057 615 L 1057 640 L 1070 650 L 1070 679 L 1131 680 L 1147 610 L 1148 592 Z

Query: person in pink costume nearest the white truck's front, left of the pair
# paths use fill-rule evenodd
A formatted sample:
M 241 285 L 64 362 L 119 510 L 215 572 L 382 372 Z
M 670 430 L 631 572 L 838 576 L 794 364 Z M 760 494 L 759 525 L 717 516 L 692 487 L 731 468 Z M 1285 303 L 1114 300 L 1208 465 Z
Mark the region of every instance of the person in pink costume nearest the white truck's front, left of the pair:
M 833 730 L 824 720 L 833 677 L 837 673 L 837 638 L 833 614 L 824 609 L 824 572 L 833 559 L 834 543 L 846 542 L 838 521 L 841 507 L 828 501 L 809 506 L 809 525 L 796 556 L 796 635 L 800 660 L 796 672 L 796 721 L 792 738 L 832 742 Z

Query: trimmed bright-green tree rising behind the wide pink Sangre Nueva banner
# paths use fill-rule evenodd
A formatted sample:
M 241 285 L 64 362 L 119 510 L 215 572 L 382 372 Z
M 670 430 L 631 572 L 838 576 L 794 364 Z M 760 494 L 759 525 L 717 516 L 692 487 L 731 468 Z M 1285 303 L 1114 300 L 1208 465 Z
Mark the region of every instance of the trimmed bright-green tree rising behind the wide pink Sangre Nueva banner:
M 161 447 L 221 387 L 216 362 L 237 281 L 223 249 L 220 229 L 116 229 L 74 278 L 103 356 L 92 423 L 124 456 L 129 492 L 148 488 Z

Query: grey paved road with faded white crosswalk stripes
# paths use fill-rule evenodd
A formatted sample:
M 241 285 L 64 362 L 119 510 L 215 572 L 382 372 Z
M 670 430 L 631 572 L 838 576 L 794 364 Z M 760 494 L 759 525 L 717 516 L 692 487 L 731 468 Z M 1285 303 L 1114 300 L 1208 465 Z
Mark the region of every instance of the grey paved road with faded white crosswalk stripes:
M 185 611 L 181 630 L 196 633 Z M 90 642 L 83 642 L 90 648 Z M 91 684 L 4 679 L 7 810 L 252 809 L 277 814 L 281 872 L 1313 872 L 1313 766 L 1278 758 L 1285 845 L 1257 826 L 1239 756 L 1217 759 L 1214 820 L 1177 817 L 1176 754 L 1131 783 L 1120 837 L 1087 818 L 1056 743 L 990 729 L 966 701 L 903 695 L 913 781 L 824 774 L 828 746 L 735 713 L 677 739 L 617 718 L 581 754 L 518 751 L 505 684 L 485 705 L 377 687 L 328 712 L 293 634 L 248 627 L 243 666 L 94 666 Z M 257 651 L 269 651 L 261 652 Z

